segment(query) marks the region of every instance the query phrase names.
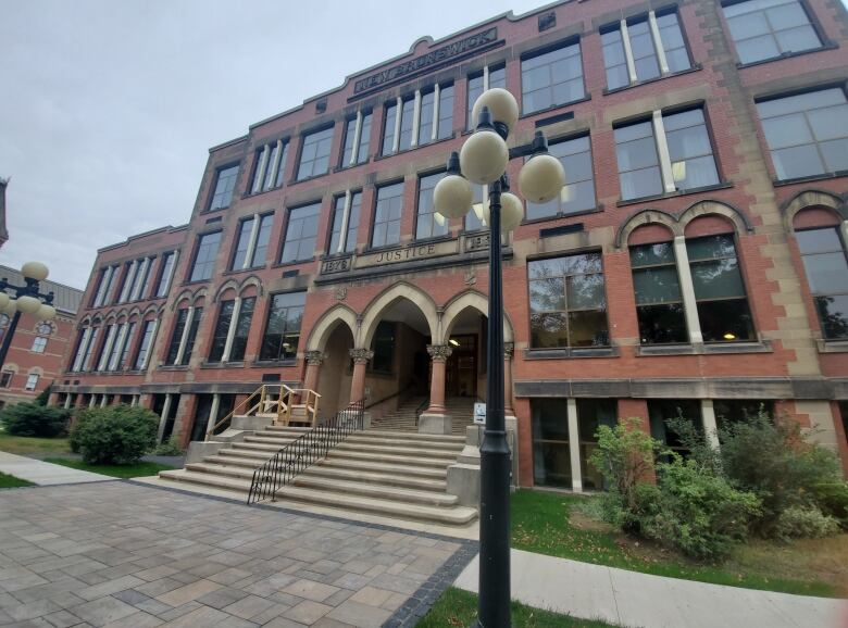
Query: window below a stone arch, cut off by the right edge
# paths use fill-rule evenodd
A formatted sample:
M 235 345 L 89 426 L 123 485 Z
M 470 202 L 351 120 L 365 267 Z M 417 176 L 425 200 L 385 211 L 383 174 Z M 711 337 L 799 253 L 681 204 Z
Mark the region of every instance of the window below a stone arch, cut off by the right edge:
M 848 339 L 848 260 L 836 227 L 796 231 L 822 336 Z

